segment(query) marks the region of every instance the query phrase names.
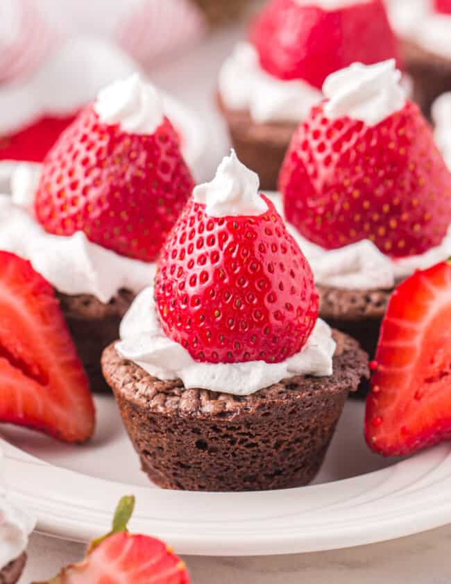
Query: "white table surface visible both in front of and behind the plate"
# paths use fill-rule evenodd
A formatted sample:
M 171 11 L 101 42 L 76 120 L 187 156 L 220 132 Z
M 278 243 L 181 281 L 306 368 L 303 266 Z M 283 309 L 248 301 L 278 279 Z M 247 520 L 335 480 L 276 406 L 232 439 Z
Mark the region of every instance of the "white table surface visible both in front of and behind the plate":
M 211 128 L 207 180 L 227 151 L 226 133 L 212 105 L 216 74 L 241 31 L 223 31 L 152 72 L 153 81 L 201 113 Z M 208 56 L 205 58 L 205 56 Z M 418 501 L 421 504 L 421 501 Z M 371 546 L 266 558 L 185 558 L 194 584 L 449 584 L 451 526 Z M 20 584 L 54 576 L 83 557 L 84 547 L 34 534 Z

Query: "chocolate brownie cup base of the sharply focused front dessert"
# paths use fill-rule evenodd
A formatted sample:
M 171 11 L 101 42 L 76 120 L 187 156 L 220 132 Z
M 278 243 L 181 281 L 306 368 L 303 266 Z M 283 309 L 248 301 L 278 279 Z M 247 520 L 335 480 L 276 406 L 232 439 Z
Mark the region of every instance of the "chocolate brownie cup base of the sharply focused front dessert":
M 167 489 L 272 490 L 307 485 L 321 467 L 368 356 L 334 332 L 334 373 L 296 376 L 237 397 L 160 381 L 105 349 L 103 374 L 148 477 Z

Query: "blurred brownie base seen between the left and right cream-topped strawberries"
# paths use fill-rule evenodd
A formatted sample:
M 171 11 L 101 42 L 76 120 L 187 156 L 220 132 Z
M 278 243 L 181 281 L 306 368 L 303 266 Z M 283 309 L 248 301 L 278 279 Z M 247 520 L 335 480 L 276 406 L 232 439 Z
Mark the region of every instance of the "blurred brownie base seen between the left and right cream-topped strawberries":
M 277 190 L 280 167 L 298 124 L 259 124 L 253 121 L 247 110 L 230 110 L 221 97 L 217 101 L 239 160 L 258 174 L 262 190 Z

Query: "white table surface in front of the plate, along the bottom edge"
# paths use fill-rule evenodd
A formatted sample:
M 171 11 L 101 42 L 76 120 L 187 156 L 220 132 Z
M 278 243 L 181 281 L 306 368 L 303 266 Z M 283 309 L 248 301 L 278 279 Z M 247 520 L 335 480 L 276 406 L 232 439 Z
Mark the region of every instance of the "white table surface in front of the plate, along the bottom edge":
M 450 584 L 451 526 L 371 546 L 266 558 L 184 558 L 193 584 Z M 80 544 L 33 535 L 19 584 L 83 557 Z

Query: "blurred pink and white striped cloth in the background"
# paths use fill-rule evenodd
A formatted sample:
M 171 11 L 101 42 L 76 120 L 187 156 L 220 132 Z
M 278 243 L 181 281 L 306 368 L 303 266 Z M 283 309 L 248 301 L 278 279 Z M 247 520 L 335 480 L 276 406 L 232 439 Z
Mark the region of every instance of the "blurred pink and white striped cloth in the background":
M 0 83 L 26 76 L 72 37 L 109 40 L 149 67 L 205 30 L 190 0 L 0 0 Z

